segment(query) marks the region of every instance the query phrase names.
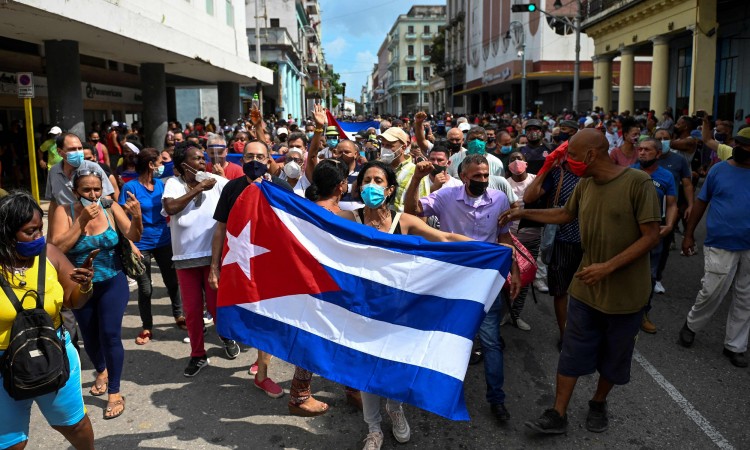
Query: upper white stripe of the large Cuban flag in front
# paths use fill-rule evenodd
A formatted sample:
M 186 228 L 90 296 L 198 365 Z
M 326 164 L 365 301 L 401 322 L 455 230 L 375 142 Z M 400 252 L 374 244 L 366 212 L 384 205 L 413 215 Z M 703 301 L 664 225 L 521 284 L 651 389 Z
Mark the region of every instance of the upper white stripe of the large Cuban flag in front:
M 350 275 L 414 294 L 479 302 L 485 305 L 485 312 L 505 283 L 497 270 L 476 269 L 347 241 L 272 208 L 318 262 Z

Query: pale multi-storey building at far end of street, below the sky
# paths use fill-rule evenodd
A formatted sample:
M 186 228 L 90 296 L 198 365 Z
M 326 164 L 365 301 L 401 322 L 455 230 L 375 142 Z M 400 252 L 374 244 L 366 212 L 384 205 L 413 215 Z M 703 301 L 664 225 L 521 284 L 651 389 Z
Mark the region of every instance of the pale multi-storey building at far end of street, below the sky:
M 398 17 L 378 51 L 378 112 L 407 114 L 427 109 L 433 39 L 445 23 L 445 6 L 412 6 Z

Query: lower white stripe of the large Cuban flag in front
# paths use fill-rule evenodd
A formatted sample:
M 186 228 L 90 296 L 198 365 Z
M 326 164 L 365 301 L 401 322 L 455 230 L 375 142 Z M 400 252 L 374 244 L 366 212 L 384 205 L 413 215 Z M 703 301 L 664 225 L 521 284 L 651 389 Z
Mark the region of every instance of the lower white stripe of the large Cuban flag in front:
M 431 369 L 461 381 L 466 375 L 472 342 L 455 334 L 382 322 L 307 294 L 237 306 L 368 355 Z

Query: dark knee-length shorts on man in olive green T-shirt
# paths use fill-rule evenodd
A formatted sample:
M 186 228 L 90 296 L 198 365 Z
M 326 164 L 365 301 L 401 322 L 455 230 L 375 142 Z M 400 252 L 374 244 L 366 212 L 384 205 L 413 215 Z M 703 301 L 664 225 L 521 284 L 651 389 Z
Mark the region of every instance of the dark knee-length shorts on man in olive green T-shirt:
M 557 373 L 580 377 L 598 371 L 614 384 L 627 384 L 642 318 L 643 310 L 606 314 L 571 296 Z

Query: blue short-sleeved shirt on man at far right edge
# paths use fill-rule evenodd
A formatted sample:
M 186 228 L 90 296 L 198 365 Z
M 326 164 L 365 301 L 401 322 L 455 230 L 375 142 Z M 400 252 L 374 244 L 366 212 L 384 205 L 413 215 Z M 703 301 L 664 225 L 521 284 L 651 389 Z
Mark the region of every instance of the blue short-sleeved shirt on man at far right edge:
M 698 198 L 710 203 L 705 245 L 732 252 L 750 250 L 750 169 L 726 161 L 714 165 Z

